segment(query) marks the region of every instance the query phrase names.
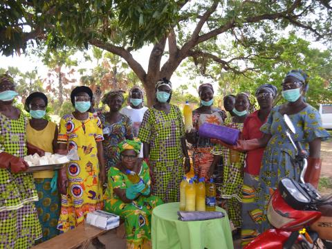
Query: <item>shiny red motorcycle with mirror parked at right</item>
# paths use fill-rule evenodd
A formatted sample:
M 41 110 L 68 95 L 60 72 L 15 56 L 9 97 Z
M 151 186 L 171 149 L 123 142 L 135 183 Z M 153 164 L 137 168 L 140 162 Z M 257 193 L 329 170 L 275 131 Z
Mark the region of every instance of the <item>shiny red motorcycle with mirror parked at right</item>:
M 332 248 L 331 196 L 322 198 L 315 187 L 304 183 L 306 151 L 294 142 L 295 127 L 285 114 L 286 136 L 295 147 L 293 163 L 300 167 L 299 182 L 284 177 L 268 203 L 268 221 L 273 229 L 259 234 L 244 249 Z

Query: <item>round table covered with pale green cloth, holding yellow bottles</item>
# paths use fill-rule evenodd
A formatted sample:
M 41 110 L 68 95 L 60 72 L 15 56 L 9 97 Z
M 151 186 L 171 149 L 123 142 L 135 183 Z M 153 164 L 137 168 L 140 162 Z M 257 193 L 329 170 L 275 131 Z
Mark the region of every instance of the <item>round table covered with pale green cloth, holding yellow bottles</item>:
M 178 203 L 166 203 L 154 208 L 151 240 L 154 249 L 232 249 L 232 232 L 228 215 L 222 208 L 222 219 L 179 221 Z

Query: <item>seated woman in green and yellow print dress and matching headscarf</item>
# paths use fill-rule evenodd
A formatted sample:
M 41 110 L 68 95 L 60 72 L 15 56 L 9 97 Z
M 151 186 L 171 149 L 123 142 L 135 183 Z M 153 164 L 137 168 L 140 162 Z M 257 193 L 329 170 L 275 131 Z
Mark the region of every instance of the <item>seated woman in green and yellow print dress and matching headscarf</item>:
M 158 196 L 150 195 L 150 176 L 147 163 L 138 160 L 140 142 L 124 140 L 118 145 L 120 162 L 108 173 L 108 187 L 104 194 L 104 210 L 124 219 L 127 248 L 151 248 L 152 210 L 163 203 Z M 133 184 L 126 170 L 136 172 L 144 183 Z

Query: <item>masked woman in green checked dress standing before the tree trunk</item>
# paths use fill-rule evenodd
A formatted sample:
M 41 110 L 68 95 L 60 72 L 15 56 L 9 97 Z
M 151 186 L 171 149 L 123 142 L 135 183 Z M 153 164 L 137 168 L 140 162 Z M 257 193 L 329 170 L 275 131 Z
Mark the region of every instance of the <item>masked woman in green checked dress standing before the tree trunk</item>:
M 184 173 L 190 171 L 182 114 L 178 107 L 169 104 L 171 97 L 172 83 L 165 78 L 158 80 L 157 103 L 145 112 L 138 134 L 154 180 L 152 194 L 165 203 L 179 201 L 180 182 Z

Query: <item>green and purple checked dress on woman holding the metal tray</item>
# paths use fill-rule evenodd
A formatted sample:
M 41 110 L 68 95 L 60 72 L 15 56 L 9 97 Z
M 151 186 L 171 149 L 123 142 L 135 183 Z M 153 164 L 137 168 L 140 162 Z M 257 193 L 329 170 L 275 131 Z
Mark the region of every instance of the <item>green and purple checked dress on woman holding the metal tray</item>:
M 26 118 L 17 120 L 0 113 L 0 151 L 26 156 Z M 31 248 L 42 237 L 35 201 L 33 174 L 0 168 L 0 248 Z

